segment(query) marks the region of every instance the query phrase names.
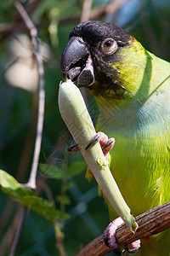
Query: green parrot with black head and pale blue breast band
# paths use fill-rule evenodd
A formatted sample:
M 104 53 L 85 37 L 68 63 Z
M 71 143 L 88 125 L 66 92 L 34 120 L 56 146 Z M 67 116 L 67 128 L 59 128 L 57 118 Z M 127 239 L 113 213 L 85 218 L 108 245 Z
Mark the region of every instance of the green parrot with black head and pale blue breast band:
M 88 20 L 71 31 L 61 72 L 98 103 L 96 131 L 115 138 L 110 169 L 133 215 L 170 201 L 170 63 L 121 28 Z M 170 230 L 143 239 L 136 255 L 170 255 Z

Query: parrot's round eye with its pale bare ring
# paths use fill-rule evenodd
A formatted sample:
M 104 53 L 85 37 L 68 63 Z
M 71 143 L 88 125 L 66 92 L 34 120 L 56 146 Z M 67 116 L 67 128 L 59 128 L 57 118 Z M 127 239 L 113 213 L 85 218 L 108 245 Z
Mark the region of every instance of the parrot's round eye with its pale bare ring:
M 116 41 L 113 38 L 106 38 L 100 44 L 99 49 L 105 55 L 112 55 L 117 49 Z

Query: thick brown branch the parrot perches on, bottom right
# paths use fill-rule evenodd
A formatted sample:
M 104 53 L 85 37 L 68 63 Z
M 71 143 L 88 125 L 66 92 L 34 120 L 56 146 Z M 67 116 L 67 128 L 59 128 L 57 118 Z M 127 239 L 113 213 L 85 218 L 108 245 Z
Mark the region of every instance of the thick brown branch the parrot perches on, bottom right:
M 116 242 L 118 247 L 122 247 L 123 245 L 146 236 L 156 235 L 170 228 L 170 202 L 155 207 L 148 212 L 144 212 L 135 219 L 139 224 L 139 229 L 135 234 L 128 230 L 125 224 L 122 224 L 122 226 L 116 230 Z M 75 256 L 102 256 L 110 252 L 111 248 L 105 246 L 102 235 L 90 241 L 88 245 L 83 247 Z

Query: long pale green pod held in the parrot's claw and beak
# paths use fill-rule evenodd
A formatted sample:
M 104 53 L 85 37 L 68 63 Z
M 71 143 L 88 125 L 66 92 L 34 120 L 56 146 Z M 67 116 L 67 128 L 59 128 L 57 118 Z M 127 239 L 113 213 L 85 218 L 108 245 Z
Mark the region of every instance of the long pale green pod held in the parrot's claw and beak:
M 127 207 L 112 177 L 99 143 L 95 143 L 85 150 L 96 134 L 96 131 L 83 101 L 82 94 L 71 80 L 67 80 L 67 82 L 59 85 L 59 111 L 65 121 L 65 125 L 71 131 L 72 137 L 74 137 L 84 159 L 88 163 L 91 172 L 93 172 L 97 183 L 99 183 L 99 187 L 130 230 L 137 230 L 138 224 L 134 221 L 133 215 L 131 215 L 130 209 Z

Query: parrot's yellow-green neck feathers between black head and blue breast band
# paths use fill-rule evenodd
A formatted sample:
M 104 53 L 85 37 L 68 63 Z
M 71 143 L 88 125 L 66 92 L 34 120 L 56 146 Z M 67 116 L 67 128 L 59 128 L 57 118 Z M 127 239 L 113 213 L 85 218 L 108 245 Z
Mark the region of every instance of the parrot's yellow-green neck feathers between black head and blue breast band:
M 162 86 L 170 84 L 170 63 L 152 55 L 134 38 L 117 50 L 115 60 L 108 63 L 108 73 L 111 69 L 114 73 L 112 84 L 97 81 L 89 88 L 97 102 L 106 106 L 129 106 L 129 100 L 143 103 L 155 90 L 159 92 Z

